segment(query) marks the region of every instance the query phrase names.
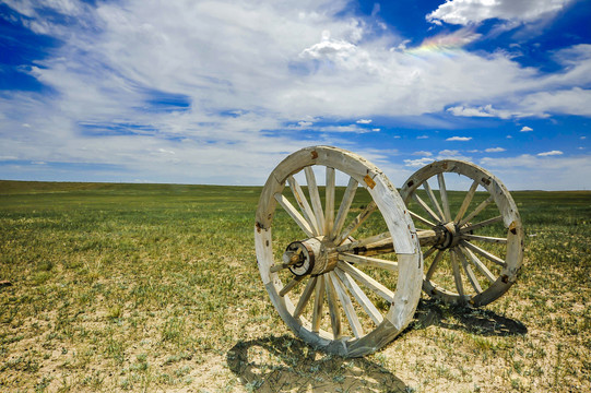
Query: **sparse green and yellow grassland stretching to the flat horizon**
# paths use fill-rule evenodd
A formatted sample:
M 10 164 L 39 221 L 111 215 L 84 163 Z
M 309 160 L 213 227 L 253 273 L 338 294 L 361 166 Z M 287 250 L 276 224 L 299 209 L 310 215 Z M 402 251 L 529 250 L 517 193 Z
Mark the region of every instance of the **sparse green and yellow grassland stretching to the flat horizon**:
M 269 301 L 260 190 L 0 181 L 0 391 L 591 391 L 591 192 L 512 193 L 527 245 L 508 294 L 424 296 L 394 342 L 343 359 Z

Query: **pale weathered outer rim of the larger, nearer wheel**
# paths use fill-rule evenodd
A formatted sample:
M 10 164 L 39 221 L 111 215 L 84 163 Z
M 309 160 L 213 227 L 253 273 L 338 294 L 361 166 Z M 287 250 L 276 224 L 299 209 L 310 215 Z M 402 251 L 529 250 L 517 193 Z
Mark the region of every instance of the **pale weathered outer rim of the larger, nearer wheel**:
M 284 191 L 285 182 L 292 175 L 310 166 L 334 168 L 365 187 L 394 239 L 399 276 L 393 301 L 381 323 L 359 337 L 334 338 L 331 333 L 322 330 L 312 332 L 307 320 L 302 317 L 294 318 L 296 306 L 288 296 L 280 296 L 284 285 L 277 274 L 270 271 L 275 264 L 272 245 L 272 223 L 277 205 L 275 194 Z M 314 146 L 293 153 L 277 165 L 261 192 L 256 215 L 255 245 L 261 278 L 273 306 L 296 335 L 314 347 L 341 356 L 364 356 L 392 341 L 414 315 L 421 296 L 423 274 L 423 258 L 414 224 L 388 178 L 376 166 L 354 153 L 330 146 Z M 335 272 L 338 269 L 335 267 Z M 330 279 L 327 278 L 326 282 L 330 283 Z M 330 299 L 328 300 L 330 308 Z

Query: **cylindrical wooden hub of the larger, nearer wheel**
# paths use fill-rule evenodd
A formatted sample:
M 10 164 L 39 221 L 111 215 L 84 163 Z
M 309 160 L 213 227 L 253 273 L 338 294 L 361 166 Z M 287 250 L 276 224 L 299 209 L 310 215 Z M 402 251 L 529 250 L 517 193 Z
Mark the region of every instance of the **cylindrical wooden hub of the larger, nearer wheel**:
M 294 241 L 283 253 L 283 262 L 296 276 L 319 275 L 336 266 L 338 253 L 334 245 L 323 236 Z

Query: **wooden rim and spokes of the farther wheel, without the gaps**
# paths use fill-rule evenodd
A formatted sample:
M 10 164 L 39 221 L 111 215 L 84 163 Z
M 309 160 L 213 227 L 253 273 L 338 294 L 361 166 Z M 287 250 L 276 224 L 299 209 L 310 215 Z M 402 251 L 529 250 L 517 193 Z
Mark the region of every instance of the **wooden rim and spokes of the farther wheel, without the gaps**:
M 439 182 L 439 191 L 441 193 L 440 201 L 442 203 L 444 215 L 446 215 L 447 219 L 448 217 L 446 212 L 446 205 L 449 206 L 449 202 L 444 201 L 447 199 L 447 196 L 445 195 L 447 194 L 447 190 L 444 191 L 444 189 L 446 188 L 445 174 L 458 174 L 461 177 L 471 179 L 471 186 L 463 196 L 460 209 L 458 210 L 458 212 L 454 212 L 453 222 L 457 224 L 458 227 L 460 227 L 460 230 L 459 233 L 452 233 L 453 238 L 451 239 L 452 242 L 449 245 L 449 247 L 457 247 L 456 251 L 451 251 L 452 248 L 447 248 L 437 252 L 435 257 L 436 260 L 434 261 L 435 263 L 430 264 L 429 270 L 425 275 L 423 289 L 429 296 L 444 301 L 460 303 L 464 303 L 468 301 L 471 307 L 484 306 L 496 300 L 499 296 L 505 294 L 512 285 L 512 283 L 515 283 L 515 281 L 517 279 L 517 272 L 519 271 L 519 267 L 521 266 L 521 262 L 523 260 L 523 229 L 521 226 L 521 218 L 519 217 L 517 206 L 509 191 L 500 182 L 500 180 L 498 180 L 495 176 L 493 176 L 485 169 L 472 163 L 461 160 L 445 159 L 426 165 L 425 167 L 418 169 L 404 182 L 404 186 L 400 190 L 400 195 L 405 202 L 410 202 L 413 199 L 413 195 L 416 193 L 416 190 L 422 184 L 424 184 L 424 182 L 428 181 L 430 178 L 437 177 Z M 471 206 L 473 204 L 473 200 L 477 195 L 477 190 L 480 187 L 484 188 L 488 195 L 483 202 L 476 204 L 474 209 Z M 478 214 L 481 214 L 487 206 L 490 206 L 493 204 L 495 205 L 495 209 L 497 209 L 500 213 L 499 216 L 484 219 L 477 224 L 472 224 L 473 219 Z M 414 214 L 411 215 L 417 223 L 427 224 L 425 223 L 426 218 L 416 217 Z M 476 233 L 480 228 L 494 225 L 498 222 L 503 222 L 505 228 L 507 228 L 506 239 L 503 237 L 496 238 L 484 236 Z M 428 228 L 435 229 L 433 228 L 433 226 Z M 460 238 L 459 243 L 457 243 L 458 237 Z M 496 243 L 497 247 L 499 247 L 500 249 L 504 248 L 500 252 L 506 255 L 505 261 L 503 261 L 499 257 L 493 254 L 492 252 L 488 252 L 483 248 L 475 246 L 474 242 L 493 242 Z M 426 246 L 426 243 L 422 241 L 422 246 Z M 439 243 L 438 247 L 445 248 L 446 245 Z M 433 248 L 429 249 L 427 252 L 429 251 L 432 254 L 435 252 Z M 454 257 L 452 257 L 453 253 L 456 253 Z M 482 255 L 485 259 L 490 260 L 493 263 L 500 265 L 501 271 L 498 276 L 494 273 L 490 273 L 490 271 L 486 267 L 483 261 L 481 261 L 476 257 L 476 254 Z M 451 258 L 457 260 L 456 274 L 453 271 L 453 266 L 450 266 L 451 269 L 448 269 L 447 265 L 437 263 L 439 259 L 442 260 L 444 255 L 450 255 L 450 261 Z M 460 263 L 463 266 L 462 257 L 464 260 L 466 260 L 465 269 L 459 267 Z M 470 261 L 471 263 L 469 264 L 468 261 Z M 475 270 L 472 267 L 472 265 L 475 266 Z M 458 276 L 462 278 L 461 272 L 463 271 L 466 274 L 468 281 L 470 281 L 470 284 L 474 289 L 475 295 L 472 296 L 469 294 L 459 294 L 457 284 L 442 285 L 441 283 L 437 283 L 436 279 L 433 278 L 434 272 L 436 269 L 444 267 L 445 270 L 439 271 L 440 274 L 438 275 L 438 277 L 442 274 L 448 274 L 449 276 L 453 276 L 453 282 L 456 283 L 459 281 Z M 490 285 L 488 285 L 486 288 L 482 287 L 480 285 L 480 282 L 477 282 L 476 279 L 476 271 L 482 273 L 486 277 L 486 279 L 490 282 Z M 482 289 L 482 291 L 480 293 L 478 287 Z M 464 291 L 466 289 L 469 289 L 469 291 L 472 291 L 471 288 L 462 289 Z

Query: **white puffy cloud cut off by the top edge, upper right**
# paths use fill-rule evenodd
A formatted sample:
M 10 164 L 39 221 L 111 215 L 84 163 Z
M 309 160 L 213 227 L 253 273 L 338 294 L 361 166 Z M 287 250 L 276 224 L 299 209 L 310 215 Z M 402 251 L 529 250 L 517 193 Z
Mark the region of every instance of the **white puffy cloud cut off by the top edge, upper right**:
M 533 22 L 562 11 L 572 0 L 448 0 L 426 19 L 433 23 L 469 25 L 488 19 Z

